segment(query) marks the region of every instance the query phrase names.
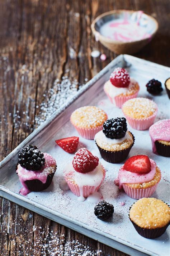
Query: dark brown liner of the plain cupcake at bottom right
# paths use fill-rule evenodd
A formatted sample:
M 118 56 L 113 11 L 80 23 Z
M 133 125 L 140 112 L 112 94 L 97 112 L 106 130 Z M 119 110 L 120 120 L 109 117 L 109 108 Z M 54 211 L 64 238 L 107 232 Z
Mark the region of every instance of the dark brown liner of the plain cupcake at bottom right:
M 129 208 L 129 211 L 131 210 L 131 207 Z M 137 233 L 139 235 L 141 235 L 142 237 L 145 237 L 145 238 L 148 238 L 148 239 L 154 239 L 154 238 L 157 238 L 157 237 L 160 237 L 161 235 L 163 235 L 165 233 L 167 227 L 170 224 L 170 223 L 168 223 L 168 224 L 166 224 L 165 226 L 163 226 L 161 228 L 147 229 L 147 228 L 141 228 L 136 223 L 134 223 L 131 220 L 130 216 L 129 216 L 129 220 L 132 222 L 132 224 L 133 224 L 134 228 L 136 229 Z

